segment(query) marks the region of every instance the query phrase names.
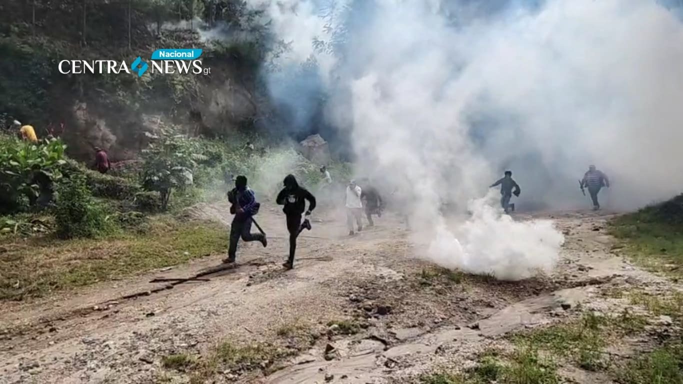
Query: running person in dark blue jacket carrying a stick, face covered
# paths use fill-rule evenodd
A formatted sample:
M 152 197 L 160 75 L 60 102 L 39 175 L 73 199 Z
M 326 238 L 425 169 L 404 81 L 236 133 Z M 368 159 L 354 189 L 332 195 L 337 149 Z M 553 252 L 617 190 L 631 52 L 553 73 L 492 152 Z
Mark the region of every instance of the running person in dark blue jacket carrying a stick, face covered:
M 230 213 L 235 215 L 230 225 L 230 245 L 227 249 L 227 259 L 225 263 L 234 263 L 237 256 L 237 243 L 240 241 L 260 241 L 264 247 L 268 245 L 266 235 L 262 233 L 251 233 L 251 223 L 253 215 L 258 212 L 260 204 L 256 202 L 256 196 L 251 188 L 247 187 L 247 177 L 237 176 L 235 178 L 235 188 L 227 193 L 227 200 L 232 204 Z

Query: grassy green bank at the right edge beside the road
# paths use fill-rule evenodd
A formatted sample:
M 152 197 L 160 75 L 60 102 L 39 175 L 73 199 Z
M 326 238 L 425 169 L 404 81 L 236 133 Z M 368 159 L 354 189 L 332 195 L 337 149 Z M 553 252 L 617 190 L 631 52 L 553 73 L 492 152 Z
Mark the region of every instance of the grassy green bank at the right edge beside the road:
M 683 195 L 617 217 L 611 223 L 611 234 L 639 264 L 669 275 L 682 275 Z

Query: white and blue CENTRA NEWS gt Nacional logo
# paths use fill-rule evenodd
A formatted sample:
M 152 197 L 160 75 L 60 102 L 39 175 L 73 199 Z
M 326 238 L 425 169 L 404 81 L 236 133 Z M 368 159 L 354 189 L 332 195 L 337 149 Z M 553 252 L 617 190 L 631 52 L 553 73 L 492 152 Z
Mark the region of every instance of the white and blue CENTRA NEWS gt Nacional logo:
M 157 49 L 152 53 L 150 64 L 136 57 L 130 66 L 125 60 L 61 60 L 59 72 L 62 74 L 137 74 L 145 72 L 159 74 L 210 74 L 211 68 L 204 68 L 199 59 L 201 49 Z

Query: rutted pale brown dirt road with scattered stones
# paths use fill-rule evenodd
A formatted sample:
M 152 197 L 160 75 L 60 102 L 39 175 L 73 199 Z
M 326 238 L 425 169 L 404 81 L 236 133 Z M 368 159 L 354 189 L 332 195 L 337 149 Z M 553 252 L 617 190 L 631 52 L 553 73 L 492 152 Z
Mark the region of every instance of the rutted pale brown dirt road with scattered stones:
M 195 214 L 221 212 L 227 210 L 204 207 Z M 182 372 L 161 366 L 164 356 L 206 353 L 221 340 L 273 340 L 292 324 L 324 336 L 267 375 L 223 372 L 215 380 L 410 381 L 445 361 L 472 364 L 473 354 L 500 335 L 569 316 L 579 303 L 601 305 L 606 286 L 668 284 L 616 255 L 604 232 L 609 215 L 593 212 L 535 215 L 555 219 L 565 232 L 561 261 L 551 276 L 516 283 L 438 272 L 413 257 L 402 223 L 391 215 L 353 237 L 342 220 L 323 217 L 302 235 L 295 269 L 284 272 L 284 219 L 270 206 L 259 216 L 268 247 L 240 243 L 241 266 L 208 275 L 209 282 L 150 284 L 155 277 L 197 275 L 223 255 L 3 305 L 0 383 L 183 382 Z M 362 329 L 340 335 L 327 326 L 348 319 L 363 319 Z

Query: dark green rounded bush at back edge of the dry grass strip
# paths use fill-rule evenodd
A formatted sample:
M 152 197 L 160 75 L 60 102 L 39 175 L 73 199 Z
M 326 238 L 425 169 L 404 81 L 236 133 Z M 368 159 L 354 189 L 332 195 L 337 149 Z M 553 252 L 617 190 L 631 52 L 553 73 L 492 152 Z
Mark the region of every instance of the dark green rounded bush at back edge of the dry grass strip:
M 94 202 L 85 176 L 72 174 L 57 185 L 55 221 L 59 238 L 96 237 L 115 230 L 104 206 Z

